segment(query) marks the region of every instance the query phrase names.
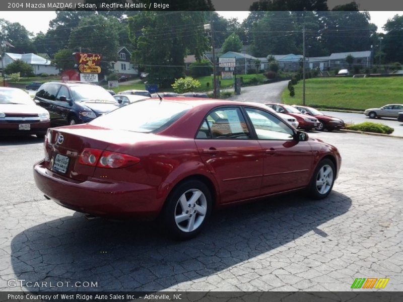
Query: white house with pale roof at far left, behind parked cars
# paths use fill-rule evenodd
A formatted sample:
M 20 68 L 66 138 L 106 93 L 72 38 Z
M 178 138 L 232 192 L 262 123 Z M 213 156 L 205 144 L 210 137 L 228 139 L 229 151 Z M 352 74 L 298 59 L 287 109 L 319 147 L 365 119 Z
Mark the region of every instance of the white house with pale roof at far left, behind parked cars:
M 6 52 L 2 58 L 3 67 L 15 62 L 16 60 L 21 60 L 32 67 L 32 71 L 39 75 L 41 73 L 47 74 L 58 74 L 60 72 L 59 68 L 56 68 L 51 64 L 50 59 L 41 57 L 34 53 L 11 53 Z

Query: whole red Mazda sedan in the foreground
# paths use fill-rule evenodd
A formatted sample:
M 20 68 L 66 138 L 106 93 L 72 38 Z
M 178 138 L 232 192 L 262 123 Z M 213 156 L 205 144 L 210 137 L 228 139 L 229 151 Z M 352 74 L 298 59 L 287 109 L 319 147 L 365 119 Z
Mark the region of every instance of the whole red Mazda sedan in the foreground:
M 341 157 L 263 105 L 149 99 L 82 125 L 49 129 L 38 188 L 97 216 L 159 218 L 189 239 L 212 208 L 306 189 L 326 197 Z

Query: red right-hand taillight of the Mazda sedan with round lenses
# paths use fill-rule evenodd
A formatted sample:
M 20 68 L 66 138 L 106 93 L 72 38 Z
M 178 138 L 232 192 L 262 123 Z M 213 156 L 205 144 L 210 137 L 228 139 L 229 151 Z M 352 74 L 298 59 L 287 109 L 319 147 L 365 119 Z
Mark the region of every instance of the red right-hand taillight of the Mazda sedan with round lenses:
M 79 163 L 100 168 L 123 168 L 140 162 L 140 159 L 131 155 L 85 148 L 80 155 Z

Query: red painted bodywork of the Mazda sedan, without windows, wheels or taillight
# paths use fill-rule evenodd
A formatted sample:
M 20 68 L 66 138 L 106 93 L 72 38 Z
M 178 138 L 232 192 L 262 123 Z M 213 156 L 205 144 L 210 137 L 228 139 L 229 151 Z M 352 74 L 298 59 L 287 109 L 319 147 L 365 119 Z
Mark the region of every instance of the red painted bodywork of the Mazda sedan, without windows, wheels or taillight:
M 181 102 L 193 108 L 155 134 L 91 124 L 50 129 L 45 160 L 34 166 L 38 188 L 57 203 L 81 212 L 153 219 L 172 188 L 188 177 L 207 183 L 215 206 L 222 206 L 303 188 L 326 156 L 340 168 L 337 149 L 318 140 L 195 139 L 212 109 L 245 104 L 194 98 L 181 98 Z M 56 143 L 58 135 L 63 135 L 63 146 Z M 86 166 L 78 162 L 84 148 L 123 153 L 140 162 L 118 169 Z M 216 150 L 214 154 L 206 151 L 211 149 Z M 70 158 L 64 175 L 51 170 L 55 154 Z

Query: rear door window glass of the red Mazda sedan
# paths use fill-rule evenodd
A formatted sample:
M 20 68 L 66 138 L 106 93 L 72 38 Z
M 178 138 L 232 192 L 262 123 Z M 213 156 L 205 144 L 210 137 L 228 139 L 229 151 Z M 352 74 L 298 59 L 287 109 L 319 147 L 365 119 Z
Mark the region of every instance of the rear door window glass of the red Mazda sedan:
M 196 138 L 249 139 L 250 133 L 239 108 L 219 108 L 207 116 Z

